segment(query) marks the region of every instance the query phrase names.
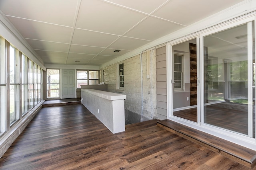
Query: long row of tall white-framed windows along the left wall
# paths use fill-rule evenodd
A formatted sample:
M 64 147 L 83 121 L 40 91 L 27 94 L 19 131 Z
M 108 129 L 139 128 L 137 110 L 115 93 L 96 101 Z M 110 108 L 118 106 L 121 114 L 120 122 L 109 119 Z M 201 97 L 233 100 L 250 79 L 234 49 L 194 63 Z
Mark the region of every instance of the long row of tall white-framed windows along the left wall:
M 0 136 L 10 132 L 40 100 L 42 68 L 0 37 Z M 42 86 L 43 87 L 43 86 Z M 26 119 L 26 118 L 25 118 Z

